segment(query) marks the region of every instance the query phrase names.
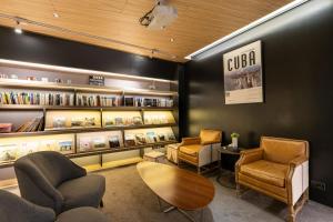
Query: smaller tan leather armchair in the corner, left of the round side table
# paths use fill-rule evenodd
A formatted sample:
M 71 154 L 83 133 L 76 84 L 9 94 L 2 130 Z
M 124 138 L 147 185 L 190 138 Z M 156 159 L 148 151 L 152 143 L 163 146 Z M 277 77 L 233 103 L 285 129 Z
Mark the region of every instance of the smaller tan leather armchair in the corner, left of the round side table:
M 201 130 L 196 138 L 183 138 L 178 151 L 179 164 L 181 161 L 201 168 L 219 160 L 216 148 L 221 147 L 222 131 Z

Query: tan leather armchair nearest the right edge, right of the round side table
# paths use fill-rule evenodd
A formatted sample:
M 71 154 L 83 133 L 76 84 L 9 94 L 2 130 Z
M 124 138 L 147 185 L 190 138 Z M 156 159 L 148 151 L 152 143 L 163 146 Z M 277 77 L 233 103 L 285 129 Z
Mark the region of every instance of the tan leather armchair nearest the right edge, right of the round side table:
M 244 185 L 282 201 L 294 222 L 309 200 L 309 143 L 262 137 L 260 148 L 241 152 L 235 176 L 239 194 Z

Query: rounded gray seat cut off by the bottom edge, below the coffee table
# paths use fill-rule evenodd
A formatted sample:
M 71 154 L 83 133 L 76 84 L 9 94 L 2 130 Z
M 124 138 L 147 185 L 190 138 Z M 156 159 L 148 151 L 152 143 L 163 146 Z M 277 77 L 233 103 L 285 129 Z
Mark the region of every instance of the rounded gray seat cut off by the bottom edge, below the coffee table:
M 108 218 L 98 209 L 83 206 L 65 211 L 56 222 L 107 222 Z

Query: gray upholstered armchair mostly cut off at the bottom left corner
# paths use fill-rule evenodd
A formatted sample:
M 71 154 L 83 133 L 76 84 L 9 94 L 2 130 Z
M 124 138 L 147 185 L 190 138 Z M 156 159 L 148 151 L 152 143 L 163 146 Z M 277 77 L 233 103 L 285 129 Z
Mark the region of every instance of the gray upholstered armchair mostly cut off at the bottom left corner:
M 52 209 L 30 203 L 16 194 L 0 190 L 1 222 L 54 222 Z M 58 215 L 56 222 L 107 222 L 107 216 L 97 209 L 84 206 Z

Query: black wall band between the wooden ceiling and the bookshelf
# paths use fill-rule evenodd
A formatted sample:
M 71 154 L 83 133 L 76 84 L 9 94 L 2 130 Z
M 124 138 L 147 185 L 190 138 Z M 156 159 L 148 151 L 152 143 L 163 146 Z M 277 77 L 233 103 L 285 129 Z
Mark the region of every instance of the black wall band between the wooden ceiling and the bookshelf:
M 178 63 L 0 27 L 0 58 L 173 80 Z

